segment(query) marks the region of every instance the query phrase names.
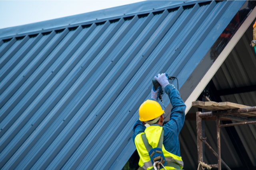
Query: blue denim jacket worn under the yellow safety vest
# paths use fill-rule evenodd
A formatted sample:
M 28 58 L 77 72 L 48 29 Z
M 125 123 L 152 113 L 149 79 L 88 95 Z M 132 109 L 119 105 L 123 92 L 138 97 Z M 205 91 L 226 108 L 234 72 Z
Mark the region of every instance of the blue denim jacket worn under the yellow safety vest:
M 172 85 L 168 84 L 164 88 L 164 92 L 168 94 L 170 98 L 170 102 L 172 104 L 172 112 L 170 115 L 170 121 L 166 123 L 164 128 L 164 148 L 177 156 L 180 156 L 180 143 L 178 139 L 178 135 L 180 130 L 183 127 L 185 121 L 185 109 L 186 105 L 183 100 L 180 98 L 180 93 L 178 90 Z M 154 99 L 151 99 L 154 100 Z M 160 126 L 153 124 L 151 126 Z M 146 127 L 143 125 L 142 121 L 138 120 L 134 124 L 132 139 L 135 141 L 136 135 L 143 133 Z M 134 142 L 135 143 L 135 142 Z

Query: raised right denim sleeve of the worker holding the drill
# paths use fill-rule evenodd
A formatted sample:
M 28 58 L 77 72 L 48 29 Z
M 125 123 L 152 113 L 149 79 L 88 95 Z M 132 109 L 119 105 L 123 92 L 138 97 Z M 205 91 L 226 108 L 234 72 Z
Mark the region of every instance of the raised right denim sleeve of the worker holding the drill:
M 168 94 L 172 104 L 170 121 L 166 123 L 165 126 L 171 129 L 176 136 L 178 136 L 185 121 L 186 105 L 180 97 L 180 92 L 178 92 L 178 90 L 172 84 L 168 84 L 164 88 L 164 91 L 166 94 Z

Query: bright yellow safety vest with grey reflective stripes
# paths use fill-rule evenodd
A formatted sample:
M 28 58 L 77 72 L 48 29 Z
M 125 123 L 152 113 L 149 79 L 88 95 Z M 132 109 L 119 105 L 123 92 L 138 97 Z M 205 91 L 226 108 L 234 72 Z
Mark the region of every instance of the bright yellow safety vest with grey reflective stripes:
M 139 161 L 139 166 L 142 167 L 144 170 L 151 170 L 153 168 L 152 162 L 150 160 L 150 156 L 148 154 L 148 151 L 143 143 L 142 140 L 142 135 L 146 134 L 146 138 L 148 139 L 149 145 L 152 146 L 152 148 L 156 148 L 160 139 L 161 132 L 163 130 L 163 127 L 160 126 L 149 126 L 146 128 L 144 133 L 140 133 L 135 137 L 135 145 L 136 149 L 138 151 L 138 154 L 140 156 L 140 161 Z M 164 157 L 166 158 L 166 161 L 173 164 L 176 164 L 176 168 L 172 166 L 165 166 L 166 169 L 168 170 L 173 170 L 173 169 L 182 169 L 183 168 L 183 161 L 181 156 L 177 156 L 175 154 L 172 154 L 164 149 L 164 145 L 162 145 L 162 151 L 164 154 Z M 175 163 L 173 163 L 175 162 Z M 178 166 L 178 168 L 177 168 Z M 160 166 L 161 167 L 161 166 Z M 163 168 L 161 169 L 163 170 Z

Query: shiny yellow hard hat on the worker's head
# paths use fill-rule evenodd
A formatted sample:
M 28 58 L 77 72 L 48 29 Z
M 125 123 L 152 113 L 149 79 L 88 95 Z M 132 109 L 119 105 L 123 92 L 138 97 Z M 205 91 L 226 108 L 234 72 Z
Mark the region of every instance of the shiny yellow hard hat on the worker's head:
M 149 121 L 162 115 L 164 111 L 160 104 L 154 100 L 147 100 L 140 105 L 140 121 Z

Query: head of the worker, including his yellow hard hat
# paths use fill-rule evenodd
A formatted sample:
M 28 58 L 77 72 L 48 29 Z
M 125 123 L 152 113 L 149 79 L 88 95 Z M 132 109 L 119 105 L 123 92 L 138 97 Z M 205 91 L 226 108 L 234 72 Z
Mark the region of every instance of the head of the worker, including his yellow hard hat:
M 164 122 L 164 111 L 160 104 L 154 100 L 147 100 L 140 105 L 139 114 L 140 121 L 142 121 L 143 124 L 158 124 L 162 126 Z

